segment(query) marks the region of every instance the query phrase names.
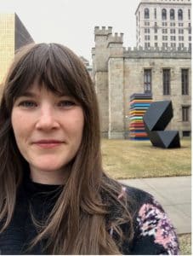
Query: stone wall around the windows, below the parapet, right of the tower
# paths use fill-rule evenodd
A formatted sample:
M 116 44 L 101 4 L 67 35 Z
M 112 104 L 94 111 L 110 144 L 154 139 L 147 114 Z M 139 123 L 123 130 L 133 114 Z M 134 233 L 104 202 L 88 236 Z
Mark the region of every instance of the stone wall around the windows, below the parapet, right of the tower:
M 152 96 L 153 101 L 171 100 L 173 102 L 173 119 L 167 126 L 167 129 L 179 130 L 182 137 L 182 131 L 190 131 L 190 122 L 182 122 L 182 106 L 191 105 L 191 91 L 188 96 L 181 93 L 181 68 L 188 68 L 190 72 L 190 59 L 164 58 L 148 59 L 125 58 L 124 61 L 124 106 L 125 106 L 125 127 L 126 131 L 129 125 L 129 96 L 133 93 L 144 93 L 144 69 L 150 68 L 152 73 Z M 171 70 L 171 94 L 163 95 L 162 69 Z M 189 73 L 189 85 L 191 84 L 191 73 Z M 191 90 L 191 86 L 190 86 Z M 127 132 L 126 132 L 127 135 Z M 128 137 L 128 136 L 126 136 Z

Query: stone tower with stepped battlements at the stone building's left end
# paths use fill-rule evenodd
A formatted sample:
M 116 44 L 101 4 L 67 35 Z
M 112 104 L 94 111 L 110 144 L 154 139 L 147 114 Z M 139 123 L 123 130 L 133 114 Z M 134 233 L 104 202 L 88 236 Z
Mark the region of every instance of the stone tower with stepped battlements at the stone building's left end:
M 99 98 L 102 136 L 123 138 L 123 34 L 112 35 L 111 26 L 95 26 L 94 37 L 94 84 Z

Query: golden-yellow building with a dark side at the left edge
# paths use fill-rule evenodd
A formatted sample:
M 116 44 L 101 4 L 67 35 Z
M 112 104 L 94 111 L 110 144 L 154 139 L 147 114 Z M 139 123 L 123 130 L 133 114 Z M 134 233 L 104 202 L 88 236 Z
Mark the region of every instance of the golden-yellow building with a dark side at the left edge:
M 0 84 L 8 71 L 14 52 L 34 42 L 18 15 L 0 14 Z

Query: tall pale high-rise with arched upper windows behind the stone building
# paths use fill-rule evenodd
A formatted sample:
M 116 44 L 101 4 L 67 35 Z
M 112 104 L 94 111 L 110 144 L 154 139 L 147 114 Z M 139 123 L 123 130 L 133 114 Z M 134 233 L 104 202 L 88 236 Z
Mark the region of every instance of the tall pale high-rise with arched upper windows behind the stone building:
M 135 15 L 137 47 L 191 48 L 190 0 L 142 0 Z

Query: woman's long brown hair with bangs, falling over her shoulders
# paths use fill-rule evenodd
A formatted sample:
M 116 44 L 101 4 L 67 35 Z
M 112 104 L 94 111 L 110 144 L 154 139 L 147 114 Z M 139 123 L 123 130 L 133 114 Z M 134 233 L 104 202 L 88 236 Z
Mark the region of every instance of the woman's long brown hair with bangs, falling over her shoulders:
M 82 143 L 71 161 L 70 176 L 48 216 L 47 222 L 31 242 L 47 239 L 47 253 L 122 253 L 120 224 L 132 220 L 126 201 L 117 196 L 121 185 L 105 175 L 100 151 L 99 109 L 94 85 L 82 61 L 60 44 L 29 44 L 15 55 L 4 82 L 0 105 L 0 220 L 2 232 L 13 217 L 16 194 L 28 165 L 15 143 L 11 113 L 15 99 L 38 79 L 54 93 L 67 93 L 81 104 L 84 113 Z M 41 85 L 42 84 L 42 85 Z M 111 216 L 111 206 L 116 217 Z M 120 213 L 120 214 L 119 214 Z M 110 234 L 116 230 L 120 240 Z

